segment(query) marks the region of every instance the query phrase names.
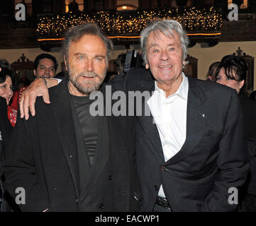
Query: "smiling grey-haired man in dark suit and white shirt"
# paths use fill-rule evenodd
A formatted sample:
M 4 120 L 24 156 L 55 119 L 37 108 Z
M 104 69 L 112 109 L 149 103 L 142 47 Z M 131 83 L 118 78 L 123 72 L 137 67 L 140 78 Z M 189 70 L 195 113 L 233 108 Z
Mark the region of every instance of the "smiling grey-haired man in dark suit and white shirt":
M 237 93 L 182 72 L 188 40 L 177 21 L 150 23 L 140 44 L 145 69 L 114 86 L 153 92 L 142 102 L 150 115 L 136 116 L 141 210 L 234 211 L 230 188 L 241 189 L 249 168 Z

